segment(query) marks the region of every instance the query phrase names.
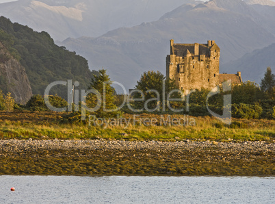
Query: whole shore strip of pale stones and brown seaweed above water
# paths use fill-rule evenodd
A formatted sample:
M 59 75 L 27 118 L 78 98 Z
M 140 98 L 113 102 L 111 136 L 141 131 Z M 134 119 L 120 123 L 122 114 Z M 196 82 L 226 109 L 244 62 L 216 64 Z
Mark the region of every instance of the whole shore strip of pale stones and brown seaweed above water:
M 0 140 L 0 175 L 275 175 L 274 142 Z

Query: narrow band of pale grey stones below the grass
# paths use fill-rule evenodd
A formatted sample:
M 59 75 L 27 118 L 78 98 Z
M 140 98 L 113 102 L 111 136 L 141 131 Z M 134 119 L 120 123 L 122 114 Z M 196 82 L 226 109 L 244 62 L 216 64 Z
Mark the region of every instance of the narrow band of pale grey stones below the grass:
M 247 142 L 190 142 L 189 140 L 177 142 L 162 141 L 123 141 L 123 140 L 0 140 L 0 153 L 20 152 L 20 151 L 38 151 L 38 150 L 142 150 L 150 149 L 154 151 L 172 151 L 175 149 L 207 149 L 216 148 L 219 151 L 246 151 L 246 152 L 265 152 L 274 153 L 275 143 L 265 141 L 247 141 Z

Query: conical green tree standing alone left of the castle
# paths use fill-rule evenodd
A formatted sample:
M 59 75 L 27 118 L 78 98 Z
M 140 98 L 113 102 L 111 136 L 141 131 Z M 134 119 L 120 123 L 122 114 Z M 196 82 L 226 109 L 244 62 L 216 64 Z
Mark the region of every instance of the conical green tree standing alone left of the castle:
M 89 89 L 96 90 L 99 95 L 88 94 L 86 104 L 90 108 L 100 104 L 99 108 L 93 113 L 98 118 L 115 117 L 117 114 L 121 114 L 114 104 L 114 88 L 112 88 L 111 84 L 112 81 L 109 75 L 106 74 L 105 69 L 99 70 L 99 74 L 92 77 Z

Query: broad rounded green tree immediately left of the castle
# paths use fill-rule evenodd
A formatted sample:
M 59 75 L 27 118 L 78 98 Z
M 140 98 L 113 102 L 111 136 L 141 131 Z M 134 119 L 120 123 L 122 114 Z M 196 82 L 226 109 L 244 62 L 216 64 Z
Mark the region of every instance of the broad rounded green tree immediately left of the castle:
M 165 99 L 163 99 L 163 92 Z M 161 107 L 163 107 L 163 102 L 167 109 L 168 97 L 169 99 L 182 99 L 175 81 L 172 79 L 166 79 L 166 77 L 159 71 L 148 71 L 142 74 L 140 81 L 137 81 L 137 85 L 135 86 L 133 98 L 142 99 L 142 94 L 144 95 L 144 100 L 135 101 L 133 103 L 135 108 L 140 110 L 142 110 L 143 107 L 147 107 L 149 110 L 153 111 L 160 110 Z M 181 103 L 179 102 L 170 102 L 170 104 L 173 108 L 181 106 Z

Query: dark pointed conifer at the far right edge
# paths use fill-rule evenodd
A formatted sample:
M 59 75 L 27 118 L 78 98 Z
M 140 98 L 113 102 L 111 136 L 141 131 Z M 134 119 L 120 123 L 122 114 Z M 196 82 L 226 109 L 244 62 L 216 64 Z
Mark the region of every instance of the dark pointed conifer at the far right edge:
M 261 90 L 270 98 L 275 96 L 275 75 L 270 67 L 267 67 L 265 77 L 261 79 Z

